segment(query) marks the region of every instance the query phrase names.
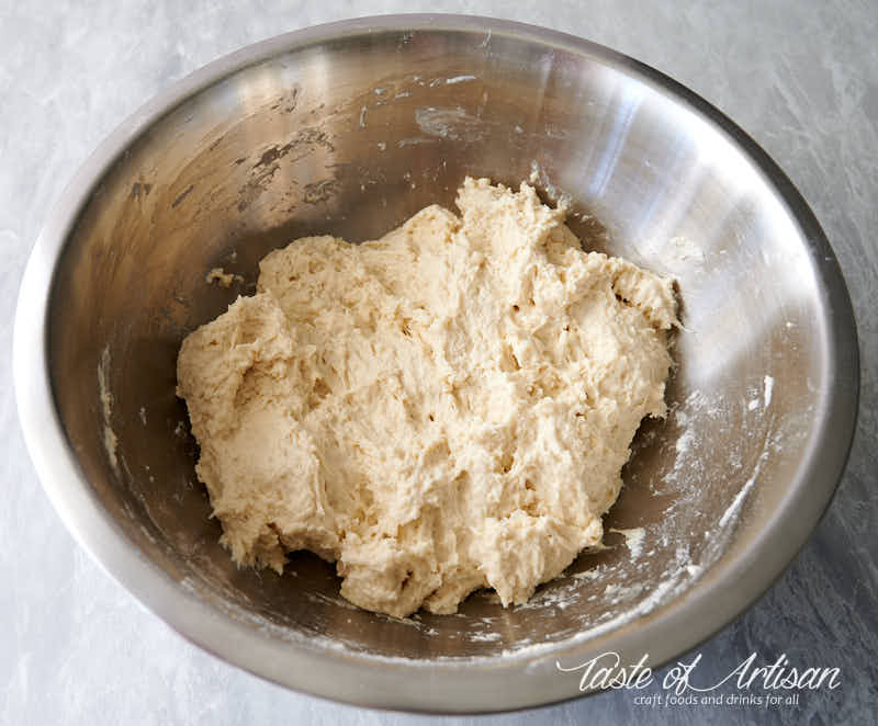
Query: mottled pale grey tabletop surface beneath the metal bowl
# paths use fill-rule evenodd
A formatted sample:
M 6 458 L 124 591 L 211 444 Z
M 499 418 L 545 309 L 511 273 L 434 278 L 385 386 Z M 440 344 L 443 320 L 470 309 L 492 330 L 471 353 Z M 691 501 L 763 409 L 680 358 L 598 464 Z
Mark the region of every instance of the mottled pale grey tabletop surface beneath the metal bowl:
M 863 393 L 851 461 L 828 514 L 784 577 L 684 659 L 700 653 L 705 678 L 718 680 L 753 651 L 772 660 L 785 653 L 803 667 L 840 668 L 842 685 L 804 692 L 795 706 L 650 708 L 629 692 L 611 692 L 518 714 L 442 719 L 340 706 L 266 683 L 187 643 L 72 541 L 24 450 L 7 352 L 0 356 L 0 723 L 874 723 L 878 5 L 871 0 L 0 0 L 0 344 L 11 349 L 19 283 L 47 211 L 126 115 L 171 81 L 249 43 L 403 11 L 505 16 L 632 55 L 738 121 L 811 204 L 841 260 L 858 321 Z

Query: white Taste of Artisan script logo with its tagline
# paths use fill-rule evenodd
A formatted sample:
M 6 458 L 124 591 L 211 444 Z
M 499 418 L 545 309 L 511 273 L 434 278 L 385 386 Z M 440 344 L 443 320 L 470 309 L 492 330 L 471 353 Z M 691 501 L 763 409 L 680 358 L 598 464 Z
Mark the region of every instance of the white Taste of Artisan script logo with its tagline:
M 581 691 L 642 691 L 655 682 L 652 668 L 646 665 L 649 658 L 649 654 L 644 654 L 635 663 L 623 666 L 619 654 L 610 651 L 579 665 L 562 666 L 555 661 L 555 666 L 562 672 L 578 673 Z M 638 695 L 634 702 L 648 706 L 798 705 L 799 691 L 835 690 L 841 685 L 838 668 L 797 668 L 786 654 L 765 666 L 756 666 L 757 658 L 753 653 L 727 676 L 716 682 L 705 682 L 697 677 L 698 663 L 701 662 L 701 654 L 698 654 L 691 662 L 677 661 L 665 673 L 661 681 L 664 693 Z M 739 693 L 713 693 L 727 683 L 734 684 Z

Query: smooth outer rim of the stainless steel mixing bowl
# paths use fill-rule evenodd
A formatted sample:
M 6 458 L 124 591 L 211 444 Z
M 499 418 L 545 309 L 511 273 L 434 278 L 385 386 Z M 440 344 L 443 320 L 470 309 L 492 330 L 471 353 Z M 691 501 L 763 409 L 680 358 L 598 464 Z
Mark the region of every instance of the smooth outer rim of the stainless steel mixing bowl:
M 729 138 L 774 188 L 807 243 L 823 307 L 829 310 L 832 355 L 825 362 L 828 386 L 819 401 L 820 424 L 772 526 L 754 537 L 746 552 L 714 564 L 722 564 L 721 578 L 702 578 L 648 615 L 594 638 L 561 642 L 531 654 L 526 649 L 510 657 L 424 661 L 272 639 L 183 588 L 127 538 L 94 495 L 54 404 L 47 330 L 55 268 L 81 209 L 126 147 L 189 98 L 248 66 L 344 37 L 407 31 L 496 34 L 588 56 L 688 107 Z M 130 115 L 80 167 L 36 240 L 19 293 L 13 377 L 27 451 L 55 510 L 113 579 L 188 640 L 257 676 L 335 701 L 425 713 L 481 713 L 583 695 L 578 679 L 562 677 L 556 666 L 561 659 L 579 663 L 587 654 L 604 651 L 599 646 L 610 637 L 620 655 L 642 654 L 646 644 L 649 665 L 655 669 L 706 640 L 753 604 L 791 563 L 832 500 L 856 427 L 859 356 L 851 298 L 814 214 L 758 144 L 718 109 L 654 68 L 574 35 L 476 15 L 399 14 L 315 25 L 249 45 L 172 83 Z M 399 688 L 402 679 L 405 689 Z

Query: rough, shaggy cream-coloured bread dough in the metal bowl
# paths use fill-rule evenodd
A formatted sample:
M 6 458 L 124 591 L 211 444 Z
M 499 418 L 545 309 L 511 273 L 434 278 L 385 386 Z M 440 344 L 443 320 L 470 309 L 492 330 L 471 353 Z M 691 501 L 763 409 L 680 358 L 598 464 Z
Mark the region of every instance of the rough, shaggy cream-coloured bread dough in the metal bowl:
M 564 211 L 486 179 L 382 239 L 271 252 L 178 360 L 239 565 L 337 561 L 378 612 L 522 603 L 577 553 L 645 416 L 663 416 L 672 281 L 585 253 Z

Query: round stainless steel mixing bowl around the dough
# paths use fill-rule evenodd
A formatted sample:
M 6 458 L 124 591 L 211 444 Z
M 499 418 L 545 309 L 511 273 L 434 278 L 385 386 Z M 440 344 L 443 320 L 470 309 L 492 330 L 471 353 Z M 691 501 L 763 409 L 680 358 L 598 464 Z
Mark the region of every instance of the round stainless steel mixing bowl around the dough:
M 175 397 L 182 338 L 254 290 L 270 249 L 374 238 L 429 203 L 453 208 L 465 174 L 532 178 L 547 200 L 567 195 L 586 247 L 679 281 L 671 412 L 638 435 L 608 547 L 525 606 L 476 594 L 457 615 L 406 620 L 349 605 L 308 554 L 283 577 L 236 569 Z M 219 265 L 243 281 L 206 284 Z M 570 697 L 581 673 L 558 665 L 616 651 L 655 666 L 728 623 L 830 501 L 858 387 L 832 250 L 745 134 L 600 46 L 441 15 L 260 43 L 125 122 L 40 237 L 14 374 L 52 501 L 149 609 L 279 683 L 438 711 Z

